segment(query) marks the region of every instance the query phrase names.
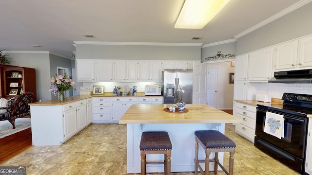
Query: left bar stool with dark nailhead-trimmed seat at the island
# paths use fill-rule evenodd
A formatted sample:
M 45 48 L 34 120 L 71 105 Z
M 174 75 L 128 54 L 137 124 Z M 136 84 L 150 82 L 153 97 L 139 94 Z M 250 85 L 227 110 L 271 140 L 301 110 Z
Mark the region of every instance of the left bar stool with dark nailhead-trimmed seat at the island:
M 143 132 L 140 141 L 141 175 L 146 175 L 146 164 L 164 164 L 165 175 L 171 173 L 172 144 L 167 132 Z M 147 154 L 164 154 L 164 161 L 146 161 Z

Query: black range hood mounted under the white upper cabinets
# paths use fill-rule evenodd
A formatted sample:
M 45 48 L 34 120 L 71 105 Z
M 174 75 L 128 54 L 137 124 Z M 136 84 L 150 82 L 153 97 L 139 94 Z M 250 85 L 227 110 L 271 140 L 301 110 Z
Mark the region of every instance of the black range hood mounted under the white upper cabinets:
M 276 71 L 269 83 L 312 83 L 312 69 Z

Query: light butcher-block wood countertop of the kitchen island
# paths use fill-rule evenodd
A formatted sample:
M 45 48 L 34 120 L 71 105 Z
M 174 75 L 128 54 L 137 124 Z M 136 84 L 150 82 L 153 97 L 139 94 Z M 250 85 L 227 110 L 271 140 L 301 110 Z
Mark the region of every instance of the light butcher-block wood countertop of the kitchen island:
M 119 124 L 130 123 L 241 123 L 242 119 L 202 104 L 187 104 L 189 111 L 166 112 L 165 105 L 131 105 L 119 119 Z

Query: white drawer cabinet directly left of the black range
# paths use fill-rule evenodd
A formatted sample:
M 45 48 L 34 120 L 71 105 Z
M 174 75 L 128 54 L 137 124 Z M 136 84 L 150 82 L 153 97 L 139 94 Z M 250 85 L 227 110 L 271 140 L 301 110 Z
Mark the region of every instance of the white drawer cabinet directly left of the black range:
M 237 134 L 254 143 L 256 106 L 236 102 L 235 116 L 243 119 L 235 125 Z

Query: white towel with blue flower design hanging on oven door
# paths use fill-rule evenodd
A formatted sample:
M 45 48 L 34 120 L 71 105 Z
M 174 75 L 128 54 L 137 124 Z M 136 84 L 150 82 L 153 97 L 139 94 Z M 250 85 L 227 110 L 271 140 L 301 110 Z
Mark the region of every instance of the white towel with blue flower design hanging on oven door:
M 264 132 L 278 139 L 284 138 L 284 116 L 267 112 L 264 123 Z

